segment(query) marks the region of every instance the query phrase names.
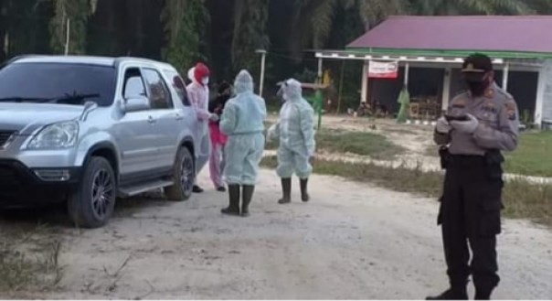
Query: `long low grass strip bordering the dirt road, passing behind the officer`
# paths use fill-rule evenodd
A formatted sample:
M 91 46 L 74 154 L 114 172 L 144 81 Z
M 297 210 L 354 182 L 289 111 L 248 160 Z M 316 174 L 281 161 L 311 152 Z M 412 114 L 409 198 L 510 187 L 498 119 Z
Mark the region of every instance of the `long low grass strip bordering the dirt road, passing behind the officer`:
M 265 157 L 261 165 L 275 168 L 277 160 L 275 157 Z M 370 182 L 383 188 L 435 199 L 441 196 L 442 191 L 442 173 L 423 172 L 420 168 L 316 160 L 314 173 Z M 503 201 L 505 217 L 535 220 L 552 226 L 552 185 L 533 184 L 522 179 L 508 181 L 504 187 Z

